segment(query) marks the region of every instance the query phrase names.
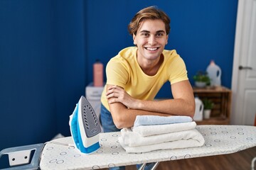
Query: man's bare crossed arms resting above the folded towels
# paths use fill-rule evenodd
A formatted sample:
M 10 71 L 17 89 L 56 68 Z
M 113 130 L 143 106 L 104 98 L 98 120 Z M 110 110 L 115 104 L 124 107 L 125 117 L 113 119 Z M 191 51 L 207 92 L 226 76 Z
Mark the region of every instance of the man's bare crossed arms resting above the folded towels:
M 171 85 L 174 99 L 144 101 L 132 98 L 119 86 L 107 84 L 107 100 L 117 128 L 132 127 L 137 115 L 188 115 L 193 117 L 195 100 L 188 80 Z

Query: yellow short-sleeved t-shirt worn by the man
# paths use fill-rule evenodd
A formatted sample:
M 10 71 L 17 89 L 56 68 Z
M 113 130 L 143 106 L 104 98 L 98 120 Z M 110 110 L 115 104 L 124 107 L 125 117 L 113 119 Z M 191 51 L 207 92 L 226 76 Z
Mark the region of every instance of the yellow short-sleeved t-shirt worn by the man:
M 164 62 L 154 76 L 144 74 L 137 62 L 137 47 L 127 47 L 107 63 L 107 83 L 121 86 L 133 98 L 153 100 L 166 81 L 174 84 L 188 79 L 186 65 L 176 50 L 164 50 Z M 106 86 L 101 102 L 108 111 Z

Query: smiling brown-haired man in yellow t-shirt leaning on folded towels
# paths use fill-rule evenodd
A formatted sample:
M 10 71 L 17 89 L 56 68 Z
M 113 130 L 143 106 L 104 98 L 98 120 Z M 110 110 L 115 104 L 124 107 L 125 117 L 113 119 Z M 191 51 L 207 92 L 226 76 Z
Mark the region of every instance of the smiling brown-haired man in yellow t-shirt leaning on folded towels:
M 108 62 L 100 120 L 104 132 L 134 125 L 137 115 L 188 115 L 195 100 L 186 65 L 176 50 L 164 50 L 170 19 L 154 6 L 139 11 L 129 23 L 134 47 L 121 50 Z M 154 101 L 166 81 L 174 98 Z

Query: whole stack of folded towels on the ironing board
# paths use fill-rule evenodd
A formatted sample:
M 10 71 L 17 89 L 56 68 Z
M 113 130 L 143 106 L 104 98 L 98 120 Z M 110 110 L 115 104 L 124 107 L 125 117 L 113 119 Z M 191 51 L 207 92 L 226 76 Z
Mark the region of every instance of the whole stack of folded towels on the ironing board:
M 119 143 L 128 153 L 201 147 L 205 140 L 189 116 L 138 115 L 134 127 L 121 130 Z

